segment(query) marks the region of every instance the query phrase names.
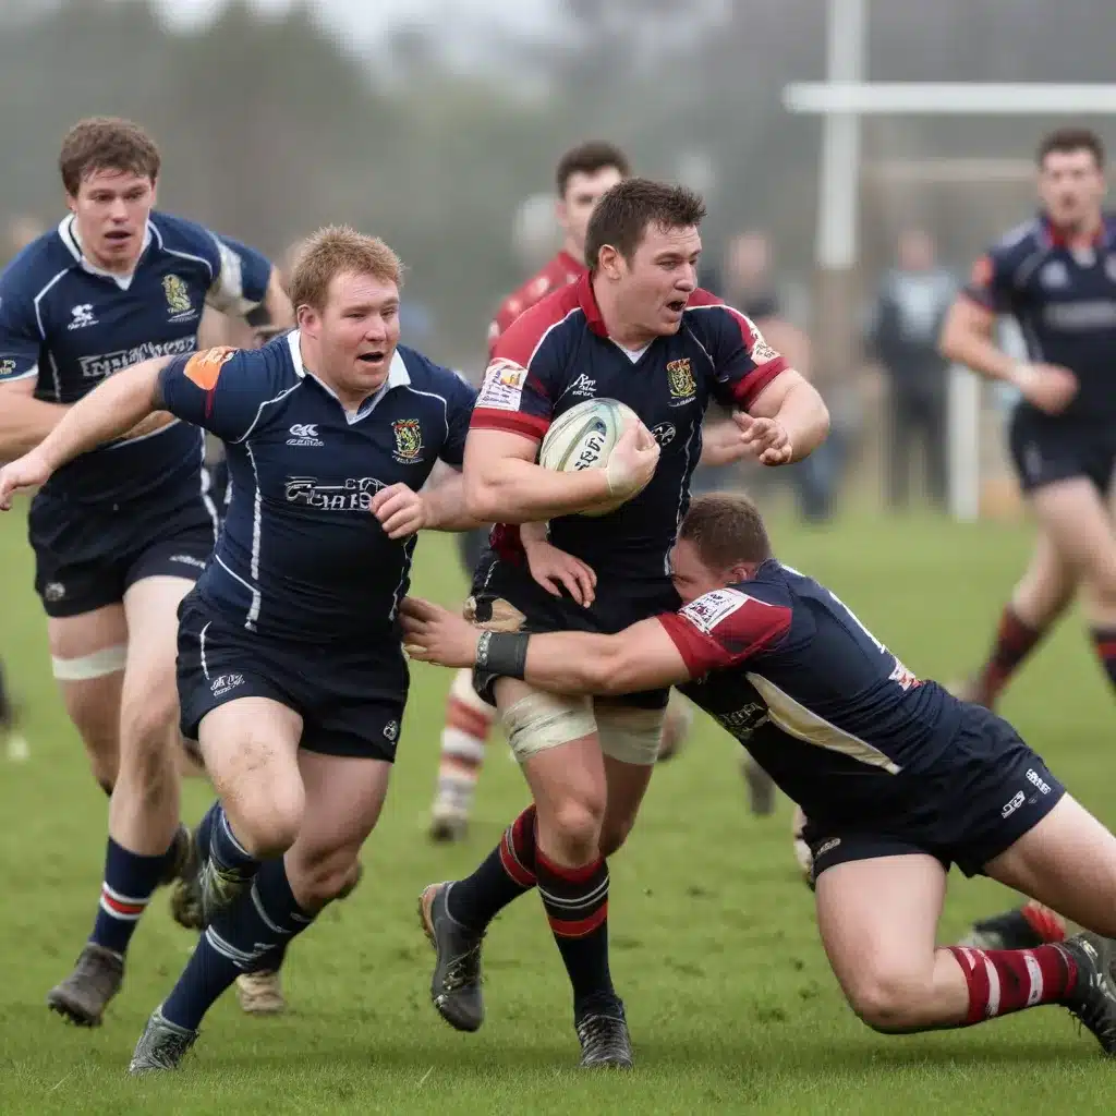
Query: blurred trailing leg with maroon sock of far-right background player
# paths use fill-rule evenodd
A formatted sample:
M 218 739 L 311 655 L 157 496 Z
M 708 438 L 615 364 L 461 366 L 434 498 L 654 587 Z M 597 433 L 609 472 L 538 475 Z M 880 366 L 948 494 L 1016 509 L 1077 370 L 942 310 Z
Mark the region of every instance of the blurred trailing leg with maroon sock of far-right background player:
M 1040 523 L 1030 562 L 1000 615 L 988 658 L 961 696 L 993 709 L 1012 675 L 1069 607 L 1076 588 L 1075 571 Z

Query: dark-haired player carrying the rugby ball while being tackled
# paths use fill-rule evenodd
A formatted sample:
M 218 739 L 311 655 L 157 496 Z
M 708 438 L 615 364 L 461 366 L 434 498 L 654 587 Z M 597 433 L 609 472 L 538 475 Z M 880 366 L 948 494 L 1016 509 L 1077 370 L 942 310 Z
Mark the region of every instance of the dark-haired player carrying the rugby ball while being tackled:
M 711 398 L 740 408 L 739 436 L 766 464 L 796 460 L 825 436 L 828 415 L 817 392 L 743 315 L 696 289 L 704 212 L 684 189 L 645 179 L 613 186 L 589 220 L 588 273 L 520 317 L 497 344 L 464 466 L 470 510 L 498 525 L 473 584 L 480 626 L 618 632 L 676 607 L 668 555 Z M 608 466 L 564 473 L 535 464 L 550 423 L 594 397 L 617 398 L 642 420 Z M 609 514 L 576 514 L 636 492 Z M 527 573 L 516 525 L 540 519 L 550 521 L 551 542 L 596 570 L 589 607 L 545 593 Z M 536 805 L 473 875 L 423 893 L 437 953 L 432 999 L 451 1026 L 480 1027 L 484 931 L 537 883 L 574 987 L 581 1065 L 631 1066 L 608 971 L 604 858 L 635 821 L 668 690 L 590 702 L 498 675 L 478 676 L 479 689 L 494 694 Z

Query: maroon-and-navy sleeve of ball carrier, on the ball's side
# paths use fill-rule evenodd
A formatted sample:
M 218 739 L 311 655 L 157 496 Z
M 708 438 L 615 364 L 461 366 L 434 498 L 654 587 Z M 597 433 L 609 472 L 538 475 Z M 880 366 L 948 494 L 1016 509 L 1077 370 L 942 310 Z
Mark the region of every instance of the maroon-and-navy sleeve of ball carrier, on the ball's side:
M 556 291 L 519 316 L 492 350 L 471 430 L 503 430 L 541 440 L 567 373 L 564 325 L 577 309 L 569 290 Z

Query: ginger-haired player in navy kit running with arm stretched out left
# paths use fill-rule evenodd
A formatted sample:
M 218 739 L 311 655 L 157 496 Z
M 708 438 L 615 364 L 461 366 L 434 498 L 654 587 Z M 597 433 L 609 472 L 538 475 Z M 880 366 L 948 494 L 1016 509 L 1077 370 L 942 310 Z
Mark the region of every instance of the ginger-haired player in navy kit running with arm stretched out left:
M 182 730 L 221 796 L 198 841 L 208 929 L 134 1072 L 176 1067 L 237 974 L 352 884 L 387 792 L 414 536 L 473 525 L 460 473 L 417 491 L 461 464 L 474 393 L 397 347 L 400 272 L 383 241 L 323 230 L 291 276 L 298 330 L 128 369 L 0 471 L 4 501 L 160 410 L 228 446 L 229 514 L 179 614 Z

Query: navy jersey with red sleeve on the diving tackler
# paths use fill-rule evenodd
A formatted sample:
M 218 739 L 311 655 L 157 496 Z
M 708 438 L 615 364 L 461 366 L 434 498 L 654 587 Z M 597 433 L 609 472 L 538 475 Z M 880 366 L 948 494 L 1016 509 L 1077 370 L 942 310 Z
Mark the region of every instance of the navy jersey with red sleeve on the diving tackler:
M 962 703 L 916 679 L 825 586 L 766 561 L 660 618 L 699 706 L 747 743 L 808 815 L 925 769 Z

